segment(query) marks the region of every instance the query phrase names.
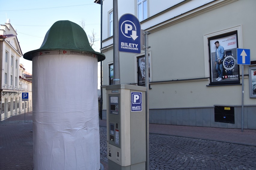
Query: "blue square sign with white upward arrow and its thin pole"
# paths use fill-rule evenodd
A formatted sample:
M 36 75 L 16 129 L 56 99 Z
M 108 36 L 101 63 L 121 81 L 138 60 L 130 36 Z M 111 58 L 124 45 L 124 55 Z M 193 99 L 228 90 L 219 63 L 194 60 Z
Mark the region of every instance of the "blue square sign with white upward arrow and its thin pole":
M 250 49 L 237 48 L 237 64 L 242 65 L 242 127 L 244 130 L 244 65 L 250 65 Z

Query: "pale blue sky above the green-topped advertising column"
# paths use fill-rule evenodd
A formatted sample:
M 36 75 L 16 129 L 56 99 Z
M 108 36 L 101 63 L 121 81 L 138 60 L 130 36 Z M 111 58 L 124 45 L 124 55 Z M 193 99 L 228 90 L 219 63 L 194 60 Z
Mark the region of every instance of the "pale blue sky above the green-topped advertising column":
M 0 24 L 5 24 L 7 19 L 17 30 L 23 54 L 40 48 L 46 32 L 60 20 L 69 20 L 80 26 L 84 21 L 87 36 L 92 35 L 93 31 L 98 40 L 93 49 L 100 52 L 100 4 L 94 3 L 94 0 L 3 1 L 0 6 Z M 32 73 L 32 61 L 20 58 L 20 64 Z

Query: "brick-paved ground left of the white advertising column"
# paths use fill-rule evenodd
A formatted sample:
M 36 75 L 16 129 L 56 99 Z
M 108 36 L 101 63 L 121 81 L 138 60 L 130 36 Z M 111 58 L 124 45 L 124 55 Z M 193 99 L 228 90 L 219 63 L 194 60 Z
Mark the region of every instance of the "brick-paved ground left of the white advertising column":
M 0 170 L 33 170 L 32 122 L 0 123 Z

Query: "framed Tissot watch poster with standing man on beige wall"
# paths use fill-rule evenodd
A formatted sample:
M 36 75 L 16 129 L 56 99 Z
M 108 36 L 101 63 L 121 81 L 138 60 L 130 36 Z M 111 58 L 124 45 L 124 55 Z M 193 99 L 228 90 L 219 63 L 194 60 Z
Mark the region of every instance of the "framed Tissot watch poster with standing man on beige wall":
M 236 48 L 237 33 L 209 39 L 210 85 L 240 83 Z

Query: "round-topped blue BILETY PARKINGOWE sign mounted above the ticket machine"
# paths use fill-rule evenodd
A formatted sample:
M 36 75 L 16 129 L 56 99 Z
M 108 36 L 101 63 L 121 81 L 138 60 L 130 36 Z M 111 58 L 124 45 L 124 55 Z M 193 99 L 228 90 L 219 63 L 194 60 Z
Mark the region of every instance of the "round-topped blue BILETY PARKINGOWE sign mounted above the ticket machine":
M 118 51 L 141 53 L 141 27 L 136 16 L 124 14 L 118 21 Z

